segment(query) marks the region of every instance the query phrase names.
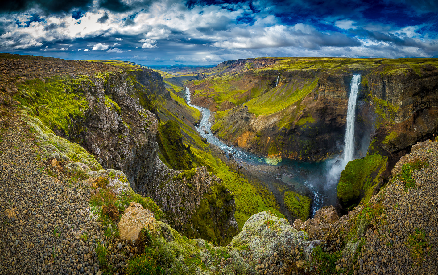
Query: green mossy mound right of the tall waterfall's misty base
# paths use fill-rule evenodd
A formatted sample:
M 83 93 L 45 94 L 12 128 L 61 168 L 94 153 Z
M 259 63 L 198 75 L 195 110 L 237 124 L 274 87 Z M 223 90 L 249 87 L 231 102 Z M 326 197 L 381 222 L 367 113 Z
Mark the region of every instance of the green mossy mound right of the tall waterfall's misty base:
M 379 175 L 386 169 L 388 157 L 378 153 L 367 154 L 362 159 L 348 162 L 341 173 L 337 187 L 339 203 L 344 209 L 357 205 L 361 200 L 367 203 L 379 182 Z

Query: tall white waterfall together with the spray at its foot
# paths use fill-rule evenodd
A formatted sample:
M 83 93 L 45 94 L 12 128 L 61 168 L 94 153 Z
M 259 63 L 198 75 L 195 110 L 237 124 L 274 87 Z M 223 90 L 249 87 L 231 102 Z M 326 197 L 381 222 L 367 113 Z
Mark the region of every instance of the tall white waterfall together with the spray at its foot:
M 342 158 L 336 158 L 333 160 L 332 168 L 329 169 L 326 179 L 327 186 L 329 188 L 333 184 L 337 184 L 339 176 L 348 162 L 354 159 L 354 117 L 356 116 L 356 100 L 359 93 L 360 74 L 353 75 L 351 80 L 350 97 L 348 98 L 347 108 L 347 123 L 344 138 L 344 151 Z

